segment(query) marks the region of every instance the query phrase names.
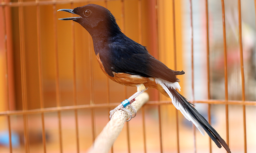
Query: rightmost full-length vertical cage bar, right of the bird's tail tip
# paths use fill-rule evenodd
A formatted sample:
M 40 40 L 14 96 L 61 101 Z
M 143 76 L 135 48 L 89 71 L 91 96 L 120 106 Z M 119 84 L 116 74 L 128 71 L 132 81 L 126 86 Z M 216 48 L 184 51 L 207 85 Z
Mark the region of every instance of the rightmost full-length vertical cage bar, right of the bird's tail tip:
M 244 58 L 243 58 L 243 43 L 242 43 L 241 0 L 238 0 L 238 33 L 239 33 L 239 47 L 240 47 L 240 67 L 241 67 L 241 77 L 242 77 L 242 101 L 244 103 L 245 87 L 244 87 Z M 243 126 L 244 126 L 244 153 L 247 153 L 245 104 L 243 104 Z

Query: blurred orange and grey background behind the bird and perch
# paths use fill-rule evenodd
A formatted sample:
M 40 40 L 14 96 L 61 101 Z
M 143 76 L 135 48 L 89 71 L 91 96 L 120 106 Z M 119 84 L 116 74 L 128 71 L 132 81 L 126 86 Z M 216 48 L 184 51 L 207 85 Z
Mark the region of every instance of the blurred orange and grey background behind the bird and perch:
M 232 153 L 256 152 L 253 0 L 241 1 L 244 99 L 237 0 L 224 1 L 227 59 L 221 0 L 192 0 L 193 55 L 189 0 L 0 2 L 1 153 L 86 152 L 108 123 L 109 110 L 114 108 L 108 103 L 120 103 L 136 92 L 135 87 L 124 87 L 102 73 L 91 36 L 81 25 L 58 20 L 72 16 L 58 9 L 89 3 L 108 8 L 124 34 L 147 46 L 169 68 L 186 72 L 178 76 L 180 93 L 211 120 Z M 147 92 L 153 104 L 145 105 L 125 124 L 110 152 L 226 152 L 208 135 L 194 132 L 192 123 L 176 113 L 170 99 L 154 89 Z

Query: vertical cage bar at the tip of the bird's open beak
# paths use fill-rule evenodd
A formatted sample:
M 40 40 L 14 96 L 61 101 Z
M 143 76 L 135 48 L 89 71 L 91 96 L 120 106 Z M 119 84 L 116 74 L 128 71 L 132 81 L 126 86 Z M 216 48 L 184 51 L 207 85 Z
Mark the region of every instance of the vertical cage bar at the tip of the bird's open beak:
M 53 28 L 54 28 L 54 42 L 55 42 L 55 66 L 56 66 L 56 103 L 57 107 L 60 107 L 60 74 L 59 74 L 59 53 L 58 53 L 58 34 L 57 34 L 57 14 L 56 4 L 53 4 Z M 62 148 L 62 128 L 61 128 L 61 113 L 58 111 L 58 123 L 59 123 L 59 141 L 60 141 L 60 153 L 63 152 Z

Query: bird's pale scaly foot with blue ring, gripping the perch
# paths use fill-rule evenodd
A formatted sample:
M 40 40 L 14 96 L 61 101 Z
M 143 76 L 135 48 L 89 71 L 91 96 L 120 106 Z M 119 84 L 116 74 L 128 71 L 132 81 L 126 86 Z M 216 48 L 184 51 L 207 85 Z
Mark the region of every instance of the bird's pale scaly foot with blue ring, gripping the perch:
M 131 100 L 131 103 L 135 101 L 135 98 Z M 132 106 L 130 105 L 131 104 L 127 99 L 125 99 L 120 105 L 118 105 L 115 109 L 111 110 L 109 112 L 109 119 L 112 118 L 113 114 L 117 111 L 117 110 L 123 110 L 124 112 L 128 113 L 128 115 L 130 116 L 130 118 L 128 120 L 126 120 L 126 122 L 132 120 L 132 118 L 134 118 L 136 116 L 136 113 L 137 113 L 137 110 Z M 128 109 L 126 109 L 125 107 L 126 106 L 129 106 L 133 112 L 134 112 L 134 116 L 132 116 L 132 112 L 129 111 Z

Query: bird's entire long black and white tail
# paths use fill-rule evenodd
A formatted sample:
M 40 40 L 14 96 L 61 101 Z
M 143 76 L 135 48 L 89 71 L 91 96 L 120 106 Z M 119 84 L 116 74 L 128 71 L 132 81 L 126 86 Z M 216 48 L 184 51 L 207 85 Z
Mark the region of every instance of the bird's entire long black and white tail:
M 186 98 L 175 90 L 180 90 L 180 85 L 178 82 L 170 83 L 162 79 L 156 79 L 156 83 L 163 87 L 164 91 L 172 99 L 172 104 L 178 110 L 180 110 L 186 119 L 191 120 L 195 124 L 196 128 L 198 128 L 202 135 L 204 135 L 205 131 L 219 148 L 221 148 L 222 145 L 228 151 L 228 153 L 231 153 L 227 143 L 220 137 L 218 132 L 212 128 L 208 121 L 197 112 L 197 110 L 192 106 L 191 103 L 188 102 Z

